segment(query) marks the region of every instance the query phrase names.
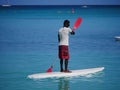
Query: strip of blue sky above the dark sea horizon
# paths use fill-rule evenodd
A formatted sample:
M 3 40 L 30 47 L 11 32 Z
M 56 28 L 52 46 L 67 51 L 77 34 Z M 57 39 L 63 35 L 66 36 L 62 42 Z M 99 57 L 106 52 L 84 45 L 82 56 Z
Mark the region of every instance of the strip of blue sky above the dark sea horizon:
M 0 0 L 0 5 L 120 5 L 120 0 Z

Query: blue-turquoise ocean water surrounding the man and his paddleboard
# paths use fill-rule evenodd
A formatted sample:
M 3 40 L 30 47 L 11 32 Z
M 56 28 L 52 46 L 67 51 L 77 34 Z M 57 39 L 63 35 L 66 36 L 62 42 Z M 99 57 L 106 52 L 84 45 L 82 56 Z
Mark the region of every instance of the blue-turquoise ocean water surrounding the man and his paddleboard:
M 72 13 L 74 8 L 74 13 Z M 29 79 L 54 63 L 59 71 L 57 33 L 63 21 L 71 28 L 69 69 L 105 67 L 96 74 L 72 78 Z M 0 7 L 0 90 L 119 90 L 120 6 Z

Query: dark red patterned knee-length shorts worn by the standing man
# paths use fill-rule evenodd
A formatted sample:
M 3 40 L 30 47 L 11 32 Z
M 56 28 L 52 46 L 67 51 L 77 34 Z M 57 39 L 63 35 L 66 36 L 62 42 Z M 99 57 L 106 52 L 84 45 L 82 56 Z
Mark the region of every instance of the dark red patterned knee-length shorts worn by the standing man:
M 68 46 L 65 46 L 65 45 L 59 46 L 59 58 L 69 60 Z

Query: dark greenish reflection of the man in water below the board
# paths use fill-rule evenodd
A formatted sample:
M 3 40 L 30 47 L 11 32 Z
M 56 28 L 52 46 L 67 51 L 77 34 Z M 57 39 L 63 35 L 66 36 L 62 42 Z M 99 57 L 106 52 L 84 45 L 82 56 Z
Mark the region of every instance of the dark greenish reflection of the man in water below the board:
M 59 79 L 58 90 L 70 90 L 68 78 Z

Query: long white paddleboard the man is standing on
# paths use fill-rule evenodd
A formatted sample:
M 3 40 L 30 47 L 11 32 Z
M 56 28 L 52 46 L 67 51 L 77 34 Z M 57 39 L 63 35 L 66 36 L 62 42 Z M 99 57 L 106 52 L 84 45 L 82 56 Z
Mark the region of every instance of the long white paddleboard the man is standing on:
M 73 76 L 83 76 L 87 74 L 96 73 L 104 70 L 104 67 L 90 68 L 90 69 L 81 69 L 81 70 L 71 70 L 71 73 L 65 72 L 50 72 L 50 73 L 38 73 L 28 75 L 30 79 L 43 79 L 43 78 L 54 78 L 54 77 L 73 77 Z

